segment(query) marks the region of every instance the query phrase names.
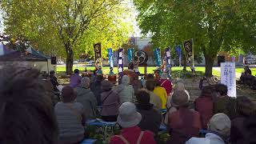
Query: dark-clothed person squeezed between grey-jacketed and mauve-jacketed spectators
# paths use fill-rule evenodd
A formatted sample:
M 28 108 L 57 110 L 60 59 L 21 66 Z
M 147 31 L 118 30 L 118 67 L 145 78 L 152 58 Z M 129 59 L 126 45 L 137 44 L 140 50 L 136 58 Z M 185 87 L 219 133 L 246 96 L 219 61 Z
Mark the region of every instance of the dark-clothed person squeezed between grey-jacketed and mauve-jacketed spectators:
M 102 94 L 102 75 L 97 75 L 95 82 L 91 83 L 90 90 L 93 91 L 95 98 L 97 99 L 98 106 L 102 106 L 101 94 Z

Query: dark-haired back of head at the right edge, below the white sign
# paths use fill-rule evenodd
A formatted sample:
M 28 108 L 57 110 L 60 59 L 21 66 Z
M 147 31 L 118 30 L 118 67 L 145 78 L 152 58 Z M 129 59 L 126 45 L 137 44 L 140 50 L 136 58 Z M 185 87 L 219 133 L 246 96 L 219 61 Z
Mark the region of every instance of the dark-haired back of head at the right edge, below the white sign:
M 239 116 L 249 117 L 256 114 L 254 102 L 246 96 L 236 98 L 236 111 Z

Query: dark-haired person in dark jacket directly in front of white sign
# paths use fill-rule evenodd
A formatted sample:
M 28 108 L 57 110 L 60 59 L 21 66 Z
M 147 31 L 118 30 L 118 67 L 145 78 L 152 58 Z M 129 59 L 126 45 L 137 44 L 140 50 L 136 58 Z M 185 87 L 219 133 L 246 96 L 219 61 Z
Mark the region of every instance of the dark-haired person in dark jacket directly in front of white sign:
M 216 85 L 217 99 L 214 102 L 214 114 L 224 113 L 231 120 L 235 117 L 235 99 L 227 95 L 227 86 L 219 83 Z

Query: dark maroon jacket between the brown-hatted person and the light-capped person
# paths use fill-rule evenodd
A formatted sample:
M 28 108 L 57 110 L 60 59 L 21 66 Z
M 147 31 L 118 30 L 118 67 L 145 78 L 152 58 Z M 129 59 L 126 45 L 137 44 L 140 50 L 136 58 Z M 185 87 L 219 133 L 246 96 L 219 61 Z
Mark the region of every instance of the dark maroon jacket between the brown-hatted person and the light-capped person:
M 210 97 L 199 97 L 194 102 L 194 110 L 200 113 L 202 128 L 207 129 L 210 118 L 214 115 L 214 102 Z

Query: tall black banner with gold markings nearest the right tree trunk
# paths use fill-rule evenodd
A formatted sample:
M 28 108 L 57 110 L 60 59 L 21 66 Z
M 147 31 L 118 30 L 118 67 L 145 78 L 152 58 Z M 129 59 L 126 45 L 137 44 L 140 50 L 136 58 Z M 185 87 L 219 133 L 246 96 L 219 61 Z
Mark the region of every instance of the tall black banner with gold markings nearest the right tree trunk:
M 194 50 L 192 38 L 184 42 L 184 49 L 186 52 L 186 62 L 189 63 L 190 69 L 194 72 Z

